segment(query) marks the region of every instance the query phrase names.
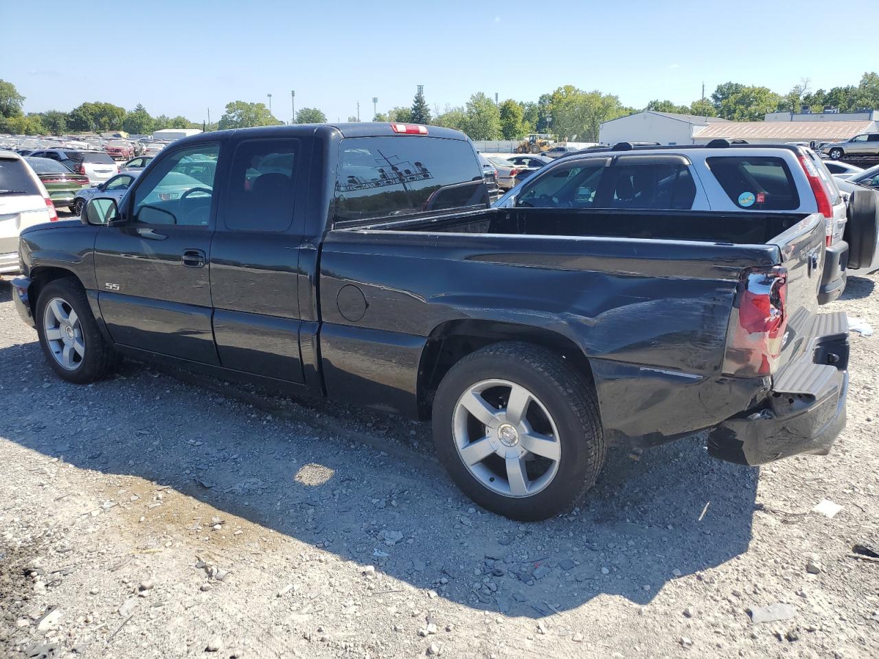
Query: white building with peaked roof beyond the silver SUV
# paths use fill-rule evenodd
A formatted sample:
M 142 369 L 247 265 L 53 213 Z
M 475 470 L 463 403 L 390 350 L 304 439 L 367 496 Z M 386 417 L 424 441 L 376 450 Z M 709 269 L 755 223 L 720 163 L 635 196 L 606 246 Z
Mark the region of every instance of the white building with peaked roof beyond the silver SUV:
M 621 141 L 657 141 L 660 144 L 694 144 L 695 135 L 712 124 L 732 123 L 728 119 L 695 114 L 644 110 L 628 117 L 605 121 L 599 127 L 602 144 Z

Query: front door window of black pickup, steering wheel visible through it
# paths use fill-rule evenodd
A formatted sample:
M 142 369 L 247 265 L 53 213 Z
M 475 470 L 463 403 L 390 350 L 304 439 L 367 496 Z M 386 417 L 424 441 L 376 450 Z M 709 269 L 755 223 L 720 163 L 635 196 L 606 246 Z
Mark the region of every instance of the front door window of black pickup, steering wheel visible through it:
M 199 144 L 163 157 L 134 191 L 132 218 L 155 225 L 210 224 L 220 145 Z

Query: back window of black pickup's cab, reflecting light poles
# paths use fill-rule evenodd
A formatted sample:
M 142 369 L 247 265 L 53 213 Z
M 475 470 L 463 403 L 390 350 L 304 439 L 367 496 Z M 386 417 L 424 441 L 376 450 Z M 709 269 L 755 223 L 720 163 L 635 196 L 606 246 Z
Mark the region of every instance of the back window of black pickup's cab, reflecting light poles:
M 480 169 L 468 141 L 347 138 L 339 147 L 335 221 L 488 206 Z

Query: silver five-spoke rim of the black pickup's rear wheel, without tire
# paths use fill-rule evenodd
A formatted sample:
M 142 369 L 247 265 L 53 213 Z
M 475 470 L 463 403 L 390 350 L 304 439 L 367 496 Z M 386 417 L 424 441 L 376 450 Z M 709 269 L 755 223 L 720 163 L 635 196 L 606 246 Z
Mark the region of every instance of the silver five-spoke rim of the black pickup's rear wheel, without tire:
M 469 387 L 454 408 L 454 445 L 484 487 L 505 496 L 532 496 L 558 472 L 562 443 L 537 396 L 508 380 Z

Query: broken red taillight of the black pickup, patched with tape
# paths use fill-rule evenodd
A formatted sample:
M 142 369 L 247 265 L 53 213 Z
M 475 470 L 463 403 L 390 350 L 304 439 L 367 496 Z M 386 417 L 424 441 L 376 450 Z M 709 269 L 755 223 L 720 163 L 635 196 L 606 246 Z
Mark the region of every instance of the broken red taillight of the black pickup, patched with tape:
M 781 266 L 746 270 L 730 315 L 723 373 L 771 375 L 778 366 L 788 327 L 788 271 Z

